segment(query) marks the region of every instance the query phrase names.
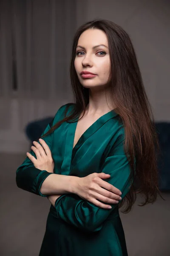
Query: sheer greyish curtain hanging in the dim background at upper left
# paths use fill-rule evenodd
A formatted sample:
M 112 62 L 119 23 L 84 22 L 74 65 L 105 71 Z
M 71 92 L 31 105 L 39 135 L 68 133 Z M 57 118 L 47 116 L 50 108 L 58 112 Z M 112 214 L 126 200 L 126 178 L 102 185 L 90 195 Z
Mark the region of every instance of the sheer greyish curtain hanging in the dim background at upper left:
M 0 97 L 66 99 L 76 0 L 0 1 Z

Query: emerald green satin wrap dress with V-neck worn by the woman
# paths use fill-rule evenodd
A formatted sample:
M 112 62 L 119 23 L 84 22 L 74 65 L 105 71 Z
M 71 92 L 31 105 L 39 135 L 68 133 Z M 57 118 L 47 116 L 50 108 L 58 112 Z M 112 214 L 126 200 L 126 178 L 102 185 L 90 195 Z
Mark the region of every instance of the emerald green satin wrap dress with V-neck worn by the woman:
M 74 103 L 59 108 L 52 125 L 64 118 Z M 105 179 L 122 192 L 129 192 L 130 165 L 124 152 L 125 131 L 119 115 L 110 111 L 96 120 L 73 148 L 77 120 L 64 122 L 52 134 L 43 137 L 54 159 L 54 173 L 85 177 L 94 172 L 110 174 Z M 35 154 L 33 151 L 30 152 Z M 48 175 L 34 167 L 28 157 L 18 167 L 16 182 L 21 189 L 42 195 L 41 185 Z M 127 256 L 124 230 L 118 204 L 99 208 L 76 194 L 64 194 L 51 205 L 39 256 Z

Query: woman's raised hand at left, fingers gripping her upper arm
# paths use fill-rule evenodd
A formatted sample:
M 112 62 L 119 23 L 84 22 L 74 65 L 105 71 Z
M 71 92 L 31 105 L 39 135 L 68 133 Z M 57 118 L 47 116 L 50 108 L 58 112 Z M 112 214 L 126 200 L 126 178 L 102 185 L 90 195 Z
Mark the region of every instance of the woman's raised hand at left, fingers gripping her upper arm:
M 34 163 L 35 168 L 54 173 L 54 160 L 51 155 L 50 148 L 44 140 L 39 139 L 41 145 L 33 141 L 34 146 L 31 146 L 32 151 L 36 154 L 37 159 L 30 153 L 26 153 L 27 157 Z

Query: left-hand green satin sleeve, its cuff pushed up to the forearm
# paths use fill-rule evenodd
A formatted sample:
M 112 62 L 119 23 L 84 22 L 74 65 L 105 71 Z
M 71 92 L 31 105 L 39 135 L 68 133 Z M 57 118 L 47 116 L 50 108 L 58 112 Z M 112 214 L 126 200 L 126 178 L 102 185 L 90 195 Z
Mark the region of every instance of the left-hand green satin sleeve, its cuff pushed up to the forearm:
M 61 116 L 61 109 L 63 108 L 63 106 L 59 108 L 56 115 L 54 116 L 54 119 L 47 125 L 42 135 L 48 132 L 51 129 L 51 127 L 54 125 L 54 123 L 56 123 L 59 120 L 59 117 Z M 53 133 L 43 137 L 43 140 L 45 141 L 45 143 L 47 143 L 47 145 L 51 150 Z M 31 150 L 30 154 L 36 158 L 34 151 Z M 45 178 L 51 174 L 52 173 L 49 173 L 45 170 L 42 171 L 40 169 L 35 168 L 31 160 L 28 157 L 26 157 L 24 162 L 17 169 L 16 183 L 17 183 L 17 186 L 21 189 L 24 189 L 28 192 L 45 197 L 47 195 L 42 195 L 42 193 L 40 192 L 40 188 Z

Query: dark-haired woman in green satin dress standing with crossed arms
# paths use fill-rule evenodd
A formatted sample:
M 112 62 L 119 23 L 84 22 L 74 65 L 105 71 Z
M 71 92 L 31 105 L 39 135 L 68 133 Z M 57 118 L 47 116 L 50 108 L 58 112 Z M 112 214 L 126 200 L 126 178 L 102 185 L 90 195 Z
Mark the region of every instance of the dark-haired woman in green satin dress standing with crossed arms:
M 129 36 L 108 20 L 85 23 L 70 73 L 75 103 L 34 142 L 17 186 L 51 202 L 40 256 L 127 256 L 119 207 L 159 193 L 153 115 Z

